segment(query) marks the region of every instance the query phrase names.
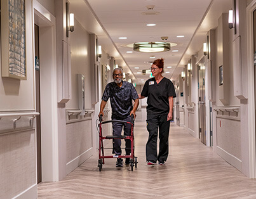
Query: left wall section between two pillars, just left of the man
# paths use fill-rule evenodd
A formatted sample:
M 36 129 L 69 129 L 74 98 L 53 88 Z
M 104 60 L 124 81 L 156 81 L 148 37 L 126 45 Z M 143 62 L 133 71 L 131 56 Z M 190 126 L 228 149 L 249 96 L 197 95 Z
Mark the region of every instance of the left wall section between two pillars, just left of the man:
M 78 74 L 84 75 L 85 109 L 93 109 L 91 104 L 91 67 L 90 67 L 90 34 L 75 20 L 76 31 L 72 32 L 71 43 L 71 84 L 72 99 L 66 104 L 66 112 L 79 110 Z M 92 113 L 69 117 L 66 113 L 67 170 L 69 174 L 94 152 L 92 133 Z M 94 146 L 95 147 L 95 146 Z

